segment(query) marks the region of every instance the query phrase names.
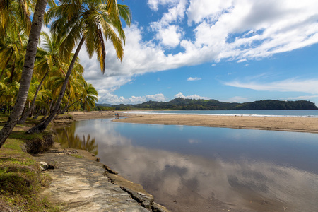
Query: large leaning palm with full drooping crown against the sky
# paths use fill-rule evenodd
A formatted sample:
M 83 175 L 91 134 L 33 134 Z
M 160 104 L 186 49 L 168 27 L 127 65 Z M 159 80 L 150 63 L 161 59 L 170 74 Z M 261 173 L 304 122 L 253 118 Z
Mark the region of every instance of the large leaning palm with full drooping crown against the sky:
M 106 57 L 104 37 L 106 41 L 110 40 L 110 42 L 112 42 L 118 59 L 122 61 L 124 56 L 122 40 L 125 41 L 125 35 L 119 17 L 123 18 L 127 25 L 130 25 L 130 10 L 127 6 L 117 4 L 117 0 L 107 0 L 107 4 L 103 3 L 104 1 L 102 0 L 63 0 L 59 6 L 51 8 L 48 11 L 46 16 L 47 23 L 52 20 L 52 18 L 57 18 L 57 20 L 54 20 L 52 23 L 51 30 L 61 36 L 67 35 L 61 44 L 61 55 L 66 58 L 69 57 L 76 42 L 78 42 L 78 47 L 69 66 L 69 70 L 66 73 L 65 81 L 59 93 L 59 98 L 55 103 L 54 110 L 47 119 L 31 128 L 28 131 L 29 134 L 46 129 L 49 122 L 54 119 L 59 110 L 61 100 L 64 97 L 67 81 L 71 75 L 73 65 L 84 43 L 90 57 L 93 57 L 94 52 L 97 54 L 102 73 L 105 72 Z M 113 28 L 117 30 L 119 37 Z

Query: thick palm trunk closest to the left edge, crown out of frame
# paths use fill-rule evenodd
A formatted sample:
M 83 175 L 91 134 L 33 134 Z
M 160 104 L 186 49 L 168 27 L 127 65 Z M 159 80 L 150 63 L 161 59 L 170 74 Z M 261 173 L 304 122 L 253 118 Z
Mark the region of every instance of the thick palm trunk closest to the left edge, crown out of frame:
M 29 42 L 25 54 L 20 88 L 16 98 L 16 104 L 13 107 L 13 111 L 10 114 L 10 117 L 8 117 L 8 121 L 6 122 L 6 124 L 4 124 L 4 128 L 2 128 L 0 131 L 0 148 L 2 145 L 4 145 L 4 142 L 8 138 L 8 135 L 11 134 L 13 127 L 16 126 L 16 123 L 18 122 L 18 119 L 23 112 L 25 101 L 28 97 L 35 61 L 35 54 L 37 53 L 37 44 L 39 42 L 46 6 L 47 0 L 37 0 L 31 25 Z

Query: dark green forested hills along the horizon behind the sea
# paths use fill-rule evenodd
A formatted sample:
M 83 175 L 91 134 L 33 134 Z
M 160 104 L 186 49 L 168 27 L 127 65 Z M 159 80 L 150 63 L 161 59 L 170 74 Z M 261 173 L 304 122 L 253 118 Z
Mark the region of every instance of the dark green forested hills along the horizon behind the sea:
M 230 103 L 218 100 L 194 100 L 175 98 L 169 102 L 148 101 L 138 105 L 100 105 L 94 110 L 318 110 L 314 102 L 259 100 L 255 102 Z

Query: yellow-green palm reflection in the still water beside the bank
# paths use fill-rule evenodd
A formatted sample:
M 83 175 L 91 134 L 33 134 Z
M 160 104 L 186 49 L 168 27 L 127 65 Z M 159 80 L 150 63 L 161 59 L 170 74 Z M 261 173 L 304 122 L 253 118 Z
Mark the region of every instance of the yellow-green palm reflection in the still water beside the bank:
M 64 126 L 63 128 L 55 129 L 55 141 L 61 143 L 62 148 L 77 148 L 83 149 L 95 155 L 98 154 L 98 144 L 95 143 L 95 138 L 91 138 L 90 134 L 83 135 L 83 139 L 75 134 L 75 124 Z

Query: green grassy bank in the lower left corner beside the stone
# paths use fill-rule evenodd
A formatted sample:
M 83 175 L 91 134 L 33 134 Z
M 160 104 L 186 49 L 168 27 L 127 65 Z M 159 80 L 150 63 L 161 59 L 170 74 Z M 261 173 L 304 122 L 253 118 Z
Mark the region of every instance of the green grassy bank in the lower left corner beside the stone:
M 0 129 L 6 119 L 7 115 L 0 114 Z M 40 196 L 42 189 L 49 187 L 50 177 L 43 174 L 39 163 L 25 152 L 48 134 L 25 134 L 35 122 L 38 121 L 32 119 L 18 124 L 0 148 L 0 211 L 59 211 L 46 196 Z

